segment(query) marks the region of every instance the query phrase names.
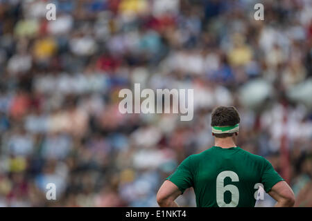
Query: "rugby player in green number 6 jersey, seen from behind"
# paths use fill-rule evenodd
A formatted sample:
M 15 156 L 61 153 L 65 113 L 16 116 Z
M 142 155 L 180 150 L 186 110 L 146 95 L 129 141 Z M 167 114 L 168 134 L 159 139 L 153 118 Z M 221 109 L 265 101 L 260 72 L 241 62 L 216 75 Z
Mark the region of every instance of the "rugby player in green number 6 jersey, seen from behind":
M 277 201 L 275 206 L 295 204 L 291 187 L 268 160 L 236 146 L 240 120 L 234 107 L 212 111 L 214 146 L 187 157 L 166 178 L 157 193 L 159 206 L 178 206 L 175 199 L 193 187 L 198 207 L 254 207 L 258 184 Z

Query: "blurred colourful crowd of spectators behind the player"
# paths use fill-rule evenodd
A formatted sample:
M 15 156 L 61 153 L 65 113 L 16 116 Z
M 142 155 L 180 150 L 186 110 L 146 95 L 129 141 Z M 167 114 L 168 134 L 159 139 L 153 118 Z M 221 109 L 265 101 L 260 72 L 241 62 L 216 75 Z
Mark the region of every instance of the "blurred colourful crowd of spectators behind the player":
M 164 179 L 214 144 L 218 105 L 312 206 L 311 57 L 311 0 L 0 0 L 0 206 L 157 206 Z M 193 88 L 193 120 L 122 115 L 135 83 Z M 177 202 L 196 206 L 193 190 Z

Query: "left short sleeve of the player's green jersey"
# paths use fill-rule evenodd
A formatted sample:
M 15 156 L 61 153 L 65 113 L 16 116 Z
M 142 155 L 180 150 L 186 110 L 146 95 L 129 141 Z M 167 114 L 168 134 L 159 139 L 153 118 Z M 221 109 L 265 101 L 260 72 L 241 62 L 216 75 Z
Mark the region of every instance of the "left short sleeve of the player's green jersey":
M 189 156 L 177 166 L 175 172 L 166 178 L 166 180 L 173 182 L 184 193 L 186 189 L 193 186 L 193 174 L 191 171 L 191 156 Z

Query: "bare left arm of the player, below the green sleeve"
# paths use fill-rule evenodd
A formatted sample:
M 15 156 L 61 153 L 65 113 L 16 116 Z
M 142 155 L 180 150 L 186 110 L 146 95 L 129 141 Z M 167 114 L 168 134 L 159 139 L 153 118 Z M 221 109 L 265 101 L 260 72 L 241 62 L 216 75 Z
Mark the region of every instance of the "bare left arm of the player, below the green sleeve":
M 166 180 L 157 193 L 157 203 L 160 207 L 179 207 L 175 199 L 181 194 L 182 192 L 173 182 Z

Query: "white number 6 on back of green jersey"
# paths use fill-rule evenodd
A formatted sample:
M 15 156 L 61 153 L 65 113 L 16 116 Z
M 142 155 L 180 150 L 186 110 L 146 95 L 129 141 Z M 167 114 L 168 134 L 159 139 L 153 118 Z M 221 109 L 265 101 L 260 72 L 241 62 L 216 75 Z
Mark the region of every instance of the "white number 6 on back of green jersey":
M 232 182 L 239 182 L 239 176 L 233 171 L 223 171 L 219 173 L 216 179 L 216 200 L 220 207 L 236 207 L 239 204 L 239 189 L 234 185 L 224 186 L 225 177 L 230 177 Z M 224 193 L 229 191 L 232 194 L 232 201 L 224 202 Z

